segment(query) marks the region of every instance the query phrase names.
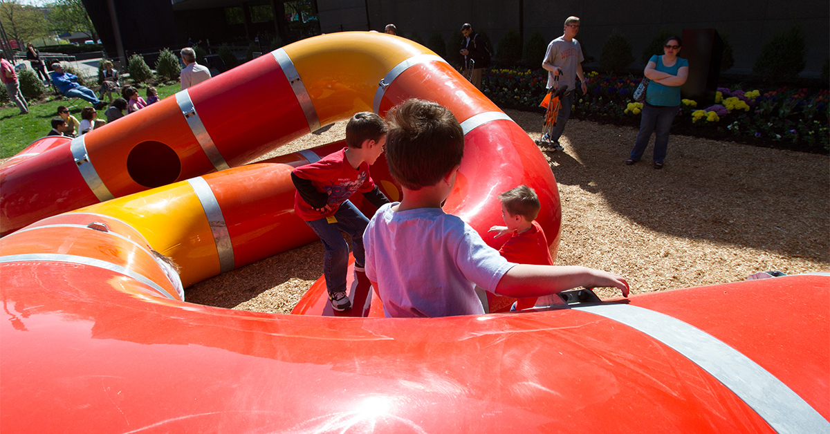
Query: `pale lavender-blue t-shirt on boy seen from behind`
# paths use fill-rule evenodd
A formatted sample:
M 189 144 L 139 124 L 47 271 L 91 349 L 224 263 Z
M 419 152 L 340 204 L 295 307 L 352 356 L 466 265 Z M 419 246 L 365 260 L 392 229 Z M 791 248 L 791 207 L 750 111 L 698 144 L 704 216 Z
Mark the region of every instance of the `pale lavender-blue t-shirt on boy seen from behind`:
M 515 264 L 475 229 L 441 208 L 375 212 L 364 232 L 366 276 L 378 283 L 383 315 L 481 315 L 475 287 L 493 292 Z

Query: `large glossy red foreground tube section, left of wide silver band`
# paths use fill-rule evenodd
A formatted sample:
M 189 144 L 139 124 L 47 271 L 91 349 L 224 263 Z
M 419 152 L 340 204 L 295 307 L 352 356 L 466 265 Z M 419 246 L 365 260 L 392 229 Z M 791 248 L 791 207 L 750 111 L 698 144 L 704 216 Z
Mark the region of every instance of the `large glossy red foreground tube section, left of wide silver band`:
M 82 266 L 13 266 L 0 266 L 0 345 L 15 354 L 3 432 L 773 432 L 680 354 L 579 311 L 286 317 L 141 300 Z M 737 286 L 719 301 L 756 289 Z

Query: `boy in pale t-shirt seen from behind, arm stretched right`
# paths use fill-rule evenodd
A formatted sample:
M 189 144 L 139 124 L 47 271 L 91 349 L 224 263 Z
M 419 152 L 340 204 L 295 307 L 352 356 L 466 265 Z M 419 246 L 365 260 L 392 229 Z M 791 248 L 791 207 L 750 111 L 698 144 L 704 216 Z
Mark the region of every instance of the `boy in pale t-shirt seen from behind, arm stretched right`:
M 388 114 L 389 173 L 403 200 L 378 209 L 364 232 L 366 276 L 388 317 L 481 315 L 475 286 L 513 298 L 550 295 L 578 286 L 614 286 L 623 276 L 583 266 L 510 263 L 461 218 L 446 214 L 464 133 L 450 110 L 406 100 Z

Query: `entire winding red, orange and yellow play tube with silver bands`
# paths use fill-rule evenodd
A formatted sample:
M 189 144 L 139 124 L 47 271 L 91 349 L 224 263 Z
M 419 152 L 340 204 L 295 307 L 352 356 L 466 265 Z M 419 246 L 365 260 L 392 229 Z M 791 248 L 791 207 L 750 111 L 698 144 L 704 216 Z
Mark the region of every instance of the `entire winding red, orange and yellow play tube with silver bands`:
M 100 193 L 100 183 L 121 197 L 0 239 L 0 432 L 830 430 L 828 273 L 624 301 L 572 293 L 551 309 L 437 319 L 271 315 L 178 300 L 150 249 L 172 256 L 191 285 L 310 241 L 313 234 L 292 211 L 288 173 L 342 143 L 203 176 L 182 173 L 211 172 L 217 155 L 237 166 L 298 132 L 357 110 L 383 115 L 412 96 L 447 105 L 465 131 L 447 211 L 484 233 L 500 222 L 496 194 L 527 183 L 539 193 L 540 222 L 558 245 L 559 196 L 540 151 L 426 49 L 377 33 L 310 38 L 270 56 L 280 71 L 296 72 L 282 75 L 284 86 L 251 72 L 280 76 L 263 57 L 193 88 L 214 147 L 115 123 L 100 131 L 134 128 L 128 139 L 113 136 L 105 146 L 98 141 L 104 134 L 90 136 L 89 154 L 80 159 L 67 157 L 71 149 L 59 141 L 34 144 L 32 155 L 14 158 L 2 172 L 4 189 L 25 191 L 40 160 L 48 161 L 56 173 L 65 171 L 61 180 L 83 183 L 53 188 L 48 197 L 83 202 L 93 189 Z M 291 92 L 294 124 L 262 122 L 268 133 L 235 118 L 214 129 L 225 121 L 217 99 L 261 97 L 261 89 L 249 88 L 261 85 Z M 168 105 L 147 112 L 182 116 Z M 224 105 L 226 119 L 237 116 L 235 108 Z M 125 120 L 150 121 L 131 116 Z M 168 134 L 193 134 L 178 120 L 152 119 Z M 181 164 L 175 182 L 130 192 L 144 189 L 138 172 L 129 174 L 130 154 L 149 149 L 160 160 L 169 154 L 164 147 Z M 100 183 L 88 183 L 90 164 Z M 125 168 L 127 175 L 119 173 Z M 371 172 L 388 197 L 399 197 L 382 158 Z M 17 191 L 2 198 L 14 198 L 17 215 L 40 212 L 37 201 Z M 3 207 L 3 216 L 13 214 Z M 422 254 L 428 252 L 413 252 L 413 261 Z M 360 305 L 366 304 L 355 310 Z

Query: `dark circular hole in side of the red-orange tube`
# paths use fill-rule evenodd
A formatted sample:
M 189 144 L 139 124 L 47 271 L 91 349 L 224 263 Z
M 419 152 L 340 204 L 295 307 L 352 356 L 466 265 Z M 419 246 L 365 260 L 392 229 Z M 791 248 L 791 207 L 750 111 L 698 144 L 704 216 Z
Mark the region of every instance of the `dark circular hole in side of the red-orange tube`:
M 161 142 L 149 140 L 136 144 L 127 156 L 127 173 L 139 185 L 148 188 L 173 183 L 182 172 L 176 151 Z

